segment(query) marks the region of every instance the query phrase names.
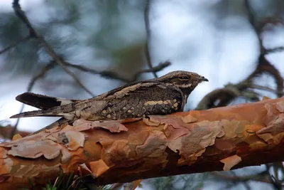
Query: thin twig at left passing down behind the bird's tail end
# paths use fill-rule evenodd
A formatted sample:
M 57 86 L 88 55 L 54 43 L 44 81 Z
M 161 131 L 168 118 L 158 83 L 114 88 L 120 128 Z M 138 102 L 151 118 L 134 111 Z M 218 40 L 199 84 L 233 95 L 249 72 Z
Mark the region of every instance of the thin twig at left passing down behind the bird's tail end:
M 51 70 L 52 68 L 54 68 L 54 66 L 55 66 L 55 61 L 54 60 L 50 61 L 48 65 L 45 65 L 45 67 L 43 67 L 40 70 L 40 73 L 38 73 L 38 75 L 34 75 L 33 78 L 31 78 L 30 83 L 28 83 L 27 92 L 31 92 L 33 85 L 35 85 L 35 82 L 39 80 L 40 78 L 43 78 L 45 74 L 48 72 L 48 70 Z M 23 112 L 24 107 L 25 107 L 25 104 L 22 104 L 20 113 Z M 11 130 L 11 138 L 13 137 L 14 134 L 16 134 L 19 121 L 20 121 L 20 118 L 17 119 L 16 124 L 13 126 L 13 129 Z

